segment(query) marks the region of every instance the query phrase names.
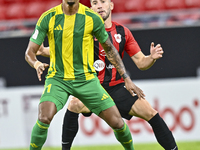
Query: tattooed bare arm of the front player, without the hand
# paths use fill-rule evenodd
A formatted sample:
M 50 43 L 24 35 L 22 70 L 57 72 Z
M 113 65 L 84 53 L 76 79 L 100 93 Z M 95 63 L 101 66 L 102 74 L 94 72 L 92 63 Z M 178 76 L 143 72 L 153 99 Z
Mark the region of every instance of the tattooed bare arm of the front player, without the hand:
M 111 43 L 110 39 L 108 38 L 106 42 L 101 43 L 101 45 L 105 50 L 108 60 L 115 66 L 119 74 L 123 77 L 123 79 L 127 78 L 128 75 L 126 74 L 126 69 L 122 62 L 122 59 L 116 48 Z

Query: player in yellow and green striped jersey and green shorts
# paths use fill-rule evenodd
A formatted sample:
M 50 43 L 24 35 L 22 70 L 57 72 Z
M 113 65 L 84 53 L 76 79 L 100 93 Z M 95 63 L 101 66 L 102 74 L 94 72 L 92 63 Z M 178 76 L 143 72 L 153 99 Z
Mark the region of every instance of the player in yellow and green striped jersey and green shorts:
M 96 76 L 93 36 L 123 77 L 126 89 L 141 99 L 145 95 L 127 75 L 101 17 L 80 4 L 79 0 L 63 0 L 62 4 L 41 15 L 25 53 L 26 61 L 36 69 L 39 80 L 48 65 L 38 61 L 36 53 L 46 35 L 50 48 L 50 67 L 40 99 L 38 120 L 31 134 L 30 150 L 41 150 L 51 120 L 66 104 L 69 95 L 81 99 L 90 111 L 105 120 L 125 150 L 133 150 L 129 128 Z

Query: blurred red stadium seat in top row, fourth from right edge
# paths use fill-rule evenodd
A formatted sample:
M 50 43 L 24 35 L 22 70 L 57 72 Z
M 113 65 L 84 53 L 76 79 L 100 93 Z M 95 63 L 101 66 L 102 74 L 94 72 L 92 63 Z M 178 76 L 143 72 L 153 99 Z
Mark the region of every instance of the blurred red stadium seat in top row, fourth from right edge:
M 125 11 L 126 12 L 141 12 L 144 11 L 145 0 L 126 0 Z

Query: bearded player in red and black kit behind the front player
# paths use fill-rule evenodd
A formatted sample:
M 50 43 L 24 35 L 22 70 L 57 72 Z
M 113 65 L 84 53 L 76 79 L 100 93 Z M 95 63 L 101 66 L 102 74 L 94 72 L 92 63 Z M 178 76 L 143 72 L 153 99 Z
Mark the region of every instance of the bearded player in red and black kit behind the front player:
M 92 9 L 105 21 L 105 28 L 113 45 L 118 50 L 121 58 L 126 51 L 136 66 L 141 70 L 149 69 L 157 59 L 162 57 L 163 49 L 160 44 L 150 46 L 150 55 L 145 56 L 130 30 L 123 25 L 111 21 L 111 11 L 114 8 L 110 0 L 90 0 Z M 174 137 L 159 113 L 151 107 L 145 99 L 132 96 L 125 88 L 124 81 L 117 70 L 107 59 L 103 47 L 95 42 L 94 67 L 102 86 L 113 98 L 121 116 L 130 120 L 136 116 L 146 120 L 152 127 L 158 143 L 166 150 L 177 150 Z M 41 48 L 38 54 L 48 56 L 48 48 Z M 78 131 L 78 116 L 90 116 L 90 110 L 77 98 L 72 97 L 63 122 L 62 149 L 69 150 Z

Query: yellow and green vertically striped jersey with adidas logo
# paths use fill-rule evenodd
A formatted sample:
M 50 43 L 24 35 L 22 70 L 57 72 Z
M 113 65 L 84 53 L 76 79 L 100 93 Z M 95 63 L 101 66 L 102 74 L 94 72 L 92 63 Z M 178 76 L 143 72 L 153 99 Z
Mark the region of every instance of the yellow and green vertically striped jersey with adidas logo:
M 50 47 L 47 78 L 94 78 L 93 36 L 100 43 L 108 38 L 104 22 L 97 13 L 79 3 L 78 12 L 68 16 L 63 13 L 60 4 L 41 15 L 30 40 L 41 45 L 46 35 Z

